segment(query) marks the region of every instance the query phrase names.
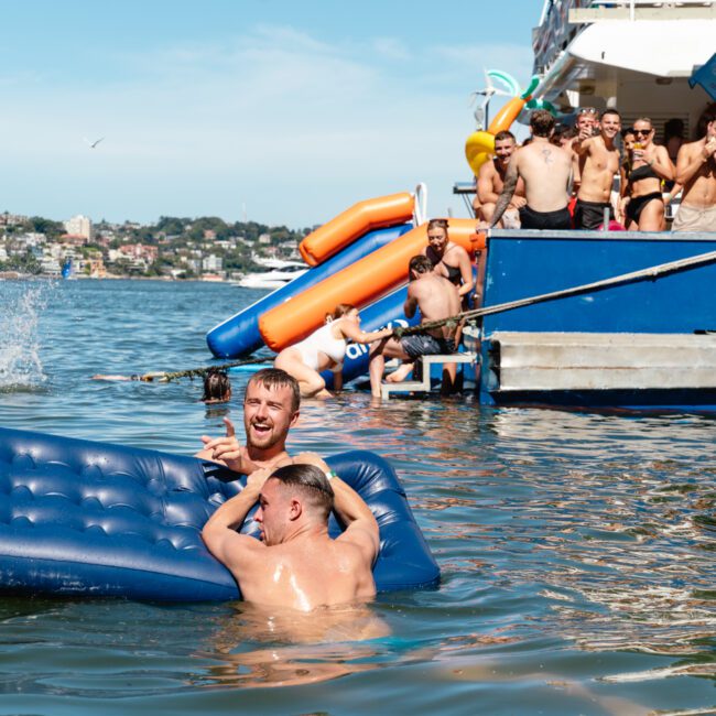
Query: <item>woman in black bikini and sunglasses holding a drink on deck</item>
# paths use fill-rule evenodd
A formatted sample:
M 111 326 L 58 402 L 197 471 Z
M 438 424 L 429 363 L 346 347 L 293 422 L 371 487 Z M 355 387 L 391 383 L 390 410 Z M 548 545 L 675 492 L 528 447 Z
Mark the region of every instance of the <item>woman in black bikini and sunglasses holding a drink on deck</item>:
M 628 175 L 622 209 L 629 231 L 662 231 L 664 228 L 664 200 L 662 180 L 674 178 L 674 165 L 665 147 L 653 143 L 654 128 L 647 117 L 633 126 L 634 142 L 631 150 L 631 171 Z

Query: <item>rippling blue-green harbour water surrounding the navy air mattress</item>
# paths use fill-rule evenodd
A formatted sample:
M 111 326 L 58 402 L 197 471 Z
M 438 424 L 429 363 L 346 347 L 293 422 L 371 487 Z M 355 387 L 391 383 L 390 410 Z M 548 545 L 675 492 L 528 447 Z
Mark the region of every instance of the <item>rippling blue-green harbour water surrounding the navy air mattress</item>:
M 258 297 L 221 284 L 0 281 L 0 424 L 189 454 L 199 382 Z M 241 605 L 0 599 L 0 714 L 716 712 L 716 421 L 480 409 L 347 392 L 290 448 L 388 457 L 443 572 L 382 595 L 392 637 L 292 643 Z

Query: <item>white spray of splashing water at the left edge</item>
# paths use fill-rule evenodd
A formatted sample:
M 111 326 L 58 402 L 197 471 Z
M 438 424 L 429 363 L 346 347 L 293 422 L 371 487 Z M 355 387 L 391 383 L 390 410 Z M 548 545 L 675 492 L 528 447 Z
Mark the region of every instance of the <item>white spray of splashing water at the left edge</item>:
M 47 305 L 50 283 L 2 281 L 0 312 L 0 391 L 32 390 L 45 382 L 37 325 Z

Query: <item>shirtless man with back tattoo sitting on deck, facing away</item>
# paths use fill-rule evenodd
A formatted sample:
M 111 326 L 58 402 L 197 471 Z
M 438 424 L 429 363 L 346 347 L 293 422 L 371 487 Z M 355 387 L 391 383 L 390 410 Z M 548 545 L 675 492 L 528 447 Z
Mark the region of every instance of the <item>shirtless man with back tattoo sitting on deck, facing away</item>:
M 512 200 L 520 178 L 524 181 L 527 196 L 527 205 L 520 209 L 523 229 L 572 228 L 567 210 L 572 152 L 550 143 L 554 117 L 549 111 L 534 110 L 530 117 L 530 128 L 533 140 L 512 156 L 492 220 L 489 225 L 478 224 L 478 230 L 497 226 Z

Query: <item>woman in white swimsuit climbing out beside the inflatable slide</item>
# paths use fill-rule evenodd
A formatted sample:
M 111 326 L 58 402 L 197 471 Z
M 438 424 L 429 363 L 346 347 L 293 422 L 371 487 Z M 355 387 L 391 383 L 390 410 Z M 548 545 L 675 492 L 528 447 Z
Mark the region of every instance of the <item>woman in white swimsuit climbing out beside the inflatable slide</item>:
M 343 360 L 348 340 L 369 344 L 392 335 L 392 328 L 366 333 L 360 329 L 358 308 L 340 303 L 326 314 L 326 323 L 302 341 L 284 348 L 273 361 L 299 381 L 302 398 L 330 398 L 321 371 L 334 372 L 334 388 L 343 388 Z

